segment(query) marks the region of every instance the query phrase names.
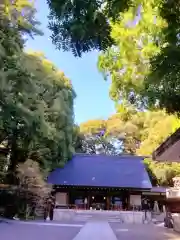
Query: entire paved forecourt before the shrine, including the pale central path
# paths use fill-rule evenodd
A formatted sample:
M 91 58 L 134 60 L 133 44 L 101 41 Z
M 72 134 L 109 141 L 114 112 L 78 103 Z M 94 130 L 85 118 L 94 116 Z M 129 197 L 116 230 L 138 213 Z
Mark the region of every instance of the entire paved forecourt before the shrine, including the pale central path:
M 179 240 L 172 230 L 153 224 L 7 222 L 0 223 L 3 240 Z

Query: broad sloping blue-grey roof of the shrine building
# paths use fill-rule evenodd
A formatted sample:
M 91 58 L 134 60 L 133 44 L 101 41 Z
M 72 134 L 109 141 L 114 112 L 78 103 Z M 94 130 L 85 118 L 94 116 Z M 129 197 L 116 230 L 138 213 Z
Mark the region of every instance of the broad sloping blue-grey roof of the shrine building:
M 75 155 L 64 168 L 54 170 L 48 183 L 92 187 L 151 189 L 142 157 Z

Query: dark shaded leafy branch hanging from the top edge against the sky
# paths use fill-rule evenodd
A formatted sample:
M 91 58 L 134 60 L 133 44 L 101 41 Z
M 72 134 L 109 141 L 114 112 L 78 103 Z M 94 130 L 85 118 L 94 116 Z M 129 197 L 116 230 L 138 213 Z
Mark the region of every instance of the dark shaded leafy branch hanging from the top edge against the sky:
M 58 49 L 81 56 L 91 50 L 105 50 L 114 43 L 110 36 L 109 18 L 131 1 L 123 0 L 47 0 L 50 8 L 49 28 L 52 41 Z

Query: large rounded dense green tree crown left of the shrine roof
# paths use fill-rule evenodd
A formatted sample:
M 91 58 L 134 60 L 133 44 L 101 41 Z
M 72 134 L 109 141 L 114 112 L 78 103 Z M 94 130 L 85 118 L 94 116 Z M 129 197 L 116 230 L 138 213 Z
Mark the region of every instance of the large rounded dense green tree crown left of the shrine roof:
M 69 80 L 45 57 L 21 54 L 15 61 L 18 69 L 8 68 L 8 79 L 0 89 L 12 168 L 18 161 L 31 158 L 48 171 L 66 162 L 73 153 L 75 94 Z

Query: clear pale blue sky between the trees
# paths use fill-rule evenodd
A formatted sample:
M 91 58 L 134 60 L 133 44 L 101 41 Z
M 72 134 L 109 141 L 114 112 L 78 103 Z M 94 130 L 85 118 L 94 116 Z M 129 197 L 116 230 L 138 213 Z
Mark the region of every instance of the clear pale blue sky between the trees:
M 114 113 L 114 103 L 109 98 L 109 82 L 103 80 L 97 70 L 97 52 L 91 52 L 82 58 L 75 58 L 71 52 L 55 49 L 47 29 L 48 6 L 45 0 L 36 3 L 37 19 L 42 23 L 44 36 L 29 39 L 26 48 L 42 51 L 65 75 L 71 79 L 76 91 L 75 121 L 81 123 L 88 119 L 107 118 Z

